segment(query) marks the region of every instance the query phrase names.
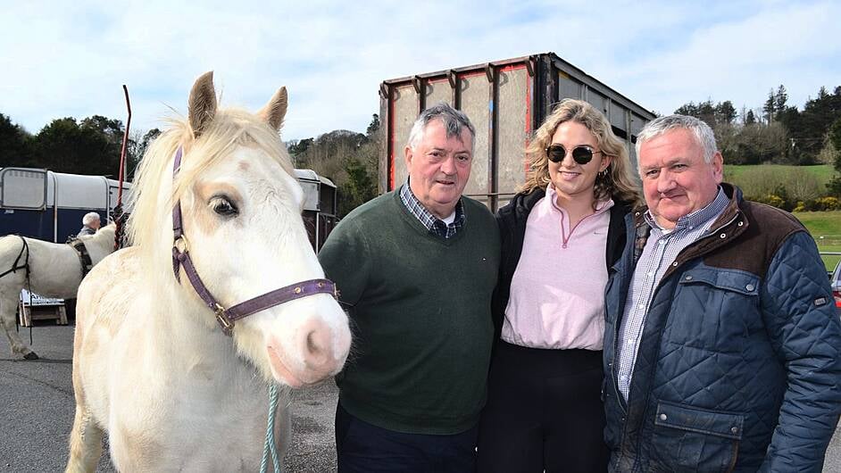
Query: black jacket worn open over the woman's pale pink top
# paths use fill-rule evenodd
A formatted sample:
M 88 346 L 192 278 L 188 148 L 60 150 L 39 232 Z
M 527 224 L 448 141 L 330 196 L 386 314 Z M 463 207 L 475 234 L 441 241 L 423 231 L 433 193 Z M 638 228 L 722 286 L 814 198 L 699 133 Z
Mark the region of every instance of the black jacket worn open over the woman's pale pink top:
M 511 279 L 514 276 L 514 270 L 517 269 L 517 263 L 520 262 L 529 212 L 544 195 L 544 189 L 535 189 L 529 194 L 514 195 L 510 203 L 496 211 L 502 257 L 499 261 L 499 278 L 496 280 L 491 307 L 494 316 L 494 340 L 498 340 L 502 333 L 505 307 L 508 305 L 508 297 L 511 294 Z M 622 249 L 625 247 L 624 219 L 631 209 L 631 203 L 617 201 L 614 201 L 611 207 L 611 222 L 607 230 L 607 247 L 604 253 L 604 262 L 608 270 L 614 262 L 619 260 Z

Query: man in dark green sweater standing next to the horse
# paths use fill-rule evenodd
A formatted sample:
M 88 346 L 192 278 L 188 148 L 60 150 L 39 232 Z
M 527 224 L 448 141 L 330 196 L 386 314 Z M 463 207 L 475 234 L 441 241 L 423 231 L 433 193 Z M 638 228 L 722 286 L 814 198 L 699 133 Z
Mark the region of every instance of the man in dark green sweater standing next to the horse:
M 336 378 L 339 473 L 474 470 L 499 265 L 493 215 L 462 197 L 474 135 L 447 104 L 421 112 L 406 184 L 347 215 L 321 248 L 354 328 Z

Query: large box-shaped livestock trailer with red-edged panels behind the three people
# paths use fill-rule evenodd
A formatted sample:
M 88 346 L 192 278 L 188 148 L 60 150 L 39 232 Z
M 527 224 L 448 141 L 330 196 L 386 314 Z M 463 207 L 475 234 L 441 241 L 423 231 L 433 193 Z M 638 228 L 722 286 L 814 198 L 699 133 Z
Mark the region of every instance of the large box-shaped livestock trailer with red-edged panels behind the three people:
M 626 142 L 635 167 L 637 133 L 655 117 L 554 53 L 389 79 L 380 85 L 379 96 L 380 118 L 387 129 L 380 149 L 380 192 L 406 180 L 404 147 L 418 114 L 445 102 L 465 112 L 476 128 L 464 193 L 492 211 L 525 182 L 529 137 L 562 99 L 586 100 L 604 112 L 613 132 Z

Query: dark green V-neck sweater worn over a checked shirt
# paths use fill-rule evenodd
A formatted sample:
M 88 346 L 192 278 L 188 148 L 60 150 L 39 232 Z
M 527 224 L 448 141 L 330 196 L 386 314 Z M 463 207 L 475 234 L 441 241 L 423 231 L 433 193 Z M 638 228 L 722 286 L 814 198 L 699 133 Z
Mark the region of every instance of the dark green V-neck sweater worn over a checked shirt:
M 354 342 L 336 377 L 346 411 L 373 425 L 450 435 L 485 404 L 499 265 L 493 215 L 462 197 L 451 238 L 429 233 L 399 192 L 351 212 L 319 253 L 351 319 Z

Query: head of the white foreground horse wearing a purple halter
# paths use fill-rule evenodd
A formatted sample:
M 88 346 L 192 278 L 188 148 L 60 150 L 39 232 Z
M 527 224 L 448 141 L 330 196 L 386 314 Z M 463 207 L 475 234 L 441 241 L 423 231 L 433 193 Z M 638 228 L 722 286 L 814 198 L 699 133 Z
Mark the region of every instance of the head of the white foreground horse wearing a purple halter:
M 287 92 L 281 87 L 256 115 L 217 111 L 208 72 L 190 93 L 188 123 L 156 140 L 137 179 L 129 226 L 135 243 L 157 253 L 160 270 L 162 254 L 170 254 L 173 244 L 171 209 L 179 205 L 184 238 L 178 247 L 188 250 L 204 286 L 225 308 L 324 277 L 301 217 L 304 192 L 279 140 L 286 109 Z M 183 158 L 173 179 L 172 155 L 179 146 Z M 155 153 L 169 154 L 161 160 L 165 165 L 154 162 Z M 146 179 L 155 182 L 147 187 Z M 187 270 L 179 270 L 180 283 L 168 272 L 167 282 L 193 306 L 204 327 L 221 331 L 217 314 L 187 281 Z M 350 346 L 345 312 L 329 294 L 257 311 L 237 320 L 232 336 L 237 351 L 266 378 L 290 386 L 335 374 Z

